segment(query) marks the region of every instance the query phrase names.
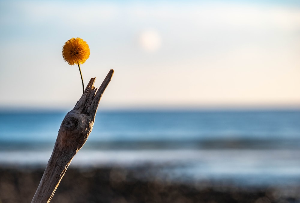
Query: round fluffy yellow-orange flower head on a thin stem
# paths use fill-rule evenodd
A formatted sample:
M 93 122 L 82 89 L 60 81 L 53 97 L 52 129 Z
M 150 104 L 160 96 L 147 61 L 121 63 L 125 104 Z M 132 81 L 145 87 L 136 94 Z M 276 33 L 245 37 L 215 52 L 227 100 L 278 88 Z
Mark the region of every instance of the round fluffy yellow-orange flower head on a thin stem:
M 90 56 L 90 48 L 81 38 L 73 37 L 64 43 L 64 46 L 62 47 L 62 56 L 70 65 L 83 64 Z

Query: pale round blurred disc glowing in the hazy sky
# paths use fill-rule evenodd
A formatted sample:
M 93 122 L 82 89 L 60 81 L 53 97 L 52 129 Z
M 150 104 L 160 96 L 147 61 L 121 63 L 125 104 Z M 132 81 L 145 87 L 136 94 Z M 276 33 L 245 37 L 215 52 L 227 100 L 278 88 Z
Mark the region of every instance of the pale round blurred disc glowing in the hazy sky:
M 146 52 L 155 52 L 161 47 L 161 36 L 154 29 L 148 29 L 141 32 L 139 44 Z

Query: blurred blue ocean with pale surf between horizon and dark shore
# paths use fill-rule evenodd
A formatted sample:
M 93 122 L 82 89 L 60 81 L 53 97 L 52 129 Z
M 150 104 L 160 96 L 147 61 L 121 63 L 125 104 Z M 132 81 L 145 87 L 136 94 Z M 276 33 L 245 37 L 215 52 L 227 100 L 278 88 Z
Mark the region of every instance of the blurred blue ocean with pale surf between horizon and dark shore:
M 0 166 L 46 166 L 66 113 L 1 111 Z M 70 167 L 147 164 L 170 181 L 299 184 L 300 110 L 98 110 Z

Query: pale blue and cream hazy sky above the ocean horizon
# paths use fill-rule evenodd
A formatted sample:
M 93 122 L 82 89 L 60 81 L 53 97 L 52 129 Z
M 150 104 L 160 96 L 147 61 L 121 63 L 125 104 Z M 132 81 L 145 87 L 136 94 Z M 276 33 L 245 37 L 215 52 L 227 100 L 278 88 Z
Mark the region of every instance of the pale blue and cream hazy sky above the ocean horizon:
M 0 0 L 0 27 L 2 109 L 73 108 L 72 37 L 103 109 L 300 107 L 299 1 Z

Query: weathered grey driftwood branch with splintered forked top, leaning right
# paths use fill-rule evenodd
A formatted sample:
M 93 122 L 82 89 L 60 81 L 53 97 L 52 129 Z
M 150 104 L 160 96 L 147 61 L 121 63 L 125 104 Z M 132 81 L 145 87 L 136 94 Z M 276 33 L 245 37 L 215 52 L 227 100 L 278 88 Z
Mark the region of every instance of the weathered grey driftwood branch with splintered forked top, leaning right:
M 74 109 L 64 117 L 52 155 L 32 203 L 48 203 L 52 199 L 71 160 L 84 145 L 92 131 L 98 104 L 113 76 L 113 72 L 113 70 L 110 70 L 98 91 L 94 87 L 96 78 L 91 78 Z

